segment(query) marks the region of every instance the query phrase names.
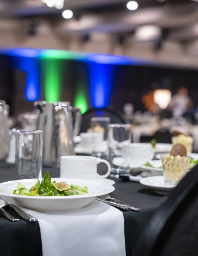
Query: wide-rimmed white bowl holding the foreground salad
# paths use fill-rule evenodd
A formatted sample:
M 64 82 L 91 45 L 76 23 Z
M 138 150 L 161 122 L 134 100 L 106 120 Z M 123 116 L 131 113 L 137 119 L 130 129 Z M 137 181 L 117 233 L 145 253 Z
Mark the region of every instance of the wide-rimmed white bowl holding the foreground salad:
M 41 180 L 42 179 L 40 179 L 40 182 Z M 86 186 L 88 187 L 88 194 L 62 197 L 33 197 L 13 194 L 13 190 L 17 189 L 17 184 L 19 183 L 24 184 L 28 189 L 30 189 L 37 182 L 36 179 L 27 179 L 0 183 L 0 195 L 7 203 L 9 203 L 9 201 L 13 202 L 14 200 L 15 204 L 18 206 L 22 206 L 33 211 L 59 213 L 77 211 L 83 206 L 90 204 L 95 197 L 109 194 L 115 189 L 112 185 L 93 180 L 52 178 L 52 181 L 54 180 L 56 180 L 57 183 L 64 181 L 67 184 L 74 184 L 81 187 Z

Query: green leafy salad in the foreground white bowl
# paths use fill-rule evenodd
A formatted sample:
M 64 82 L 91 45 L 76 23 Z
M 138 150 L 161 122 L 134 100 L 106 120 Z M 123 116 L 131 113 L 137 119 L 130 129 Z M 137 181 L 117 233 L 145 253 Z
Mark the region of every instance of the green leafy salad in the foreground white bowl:
M 23 196 L 37 196 L 37 197 L 52 197 L 52 196 L 75 196 L 79 194 L 88 194 L 87 187 L 80 187 L 76 185 L 68 185 L 61 181 L 56 183 L 52 182 L 49 172 L 45 173 L 41 183 L 37 178 L 37 183 L 28 190 L 25 185 L 19 183 L 17 190 L 14 190 L 13 194 L 20 194 Z

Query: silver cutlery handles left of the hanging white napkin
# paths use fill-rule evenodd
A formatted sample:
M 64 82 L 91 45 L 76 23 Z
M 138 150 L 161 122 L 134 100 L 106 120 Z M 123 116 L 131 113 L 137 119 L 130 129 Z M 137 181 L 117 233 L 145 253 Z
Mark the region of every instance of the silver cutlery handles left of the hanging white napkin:
M 14 209 L 16 211 L 16 213 L 18 213 L 19 216 L 21 216 L 22 219 L 24 219 L 28 222 L 38 221 L 37 218 L 33 218 L 32 216 L 28 215 L 27 213 L 25 213 L 23 210 L 21 210 L 18 206 L 14 205 L 14 204 L 5 204 L 5 206 L 12 207 L 12 209 Z M 3 207 L 5 207 L 5 206 L 3 206 Z M 0 208 L 0 212 L 5 216 L 5 218 L 7 218 L 7 220 L 12 221 L 12 222 L 16 222 L 16 221 L 20 220 L 18 218 L 14 218 L 11 214 L 9 214 L 7 211 L 5 211 L 3 209 L 3 207 Z

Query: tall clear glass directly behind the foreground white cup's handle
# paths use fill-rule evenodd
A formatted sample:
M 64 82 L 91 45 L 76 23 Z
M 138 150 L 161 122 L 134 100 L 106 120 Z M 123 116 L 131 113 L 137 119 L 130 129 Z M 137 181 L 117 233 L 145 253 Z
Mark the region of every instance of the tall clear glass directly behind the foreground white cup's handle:
M 130 172 L 130 124 L 109 124 L 109 162 L 111 164 L 111 175 L 117 177 L 120 173 Z

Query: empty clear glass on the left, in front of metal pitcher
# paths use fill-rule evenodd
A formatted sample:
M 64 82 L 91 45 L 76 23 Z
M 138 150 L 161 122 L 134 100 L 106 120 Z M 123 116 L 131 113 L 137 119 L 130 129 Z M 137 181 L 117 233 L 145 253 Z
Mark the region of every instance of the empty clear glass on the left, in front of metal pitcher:
M 16 130 L 16 179 L 42 178 L 42 130 Z

